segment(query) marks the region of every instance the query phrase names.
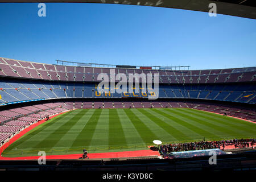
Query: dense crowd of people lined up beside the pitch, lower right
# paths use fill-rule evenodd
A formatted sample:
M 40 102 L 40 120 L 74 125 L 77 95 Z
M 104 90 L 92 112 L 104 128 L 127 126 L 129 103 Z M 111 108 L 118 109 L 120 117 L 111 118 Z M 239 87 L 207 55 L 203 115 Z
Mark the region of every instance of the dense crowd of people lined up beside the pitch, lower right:
M 225 146 L 234 145 L 235 148 L 253 147 L 256 144 L 256 139 L 230 139 L 220 141 L 200 141 L 188 143 L 165 144 L 160 146 L 163 153 L 180 152 L 189 150 L 206 150 L 219 148 L 224 150 Z

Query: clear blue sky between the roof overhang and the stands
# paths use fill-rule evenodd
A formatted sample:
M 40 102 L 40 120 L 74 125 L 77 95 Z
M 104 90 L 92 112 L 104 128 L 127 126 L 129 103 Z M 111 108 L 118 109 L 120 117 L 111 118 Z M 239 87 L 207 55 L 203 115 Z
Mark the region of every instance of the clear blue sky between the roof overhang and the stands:
M 256 20 L 160 7 L 0 3 L 0 57 L 41 63 L 256 66 Z

